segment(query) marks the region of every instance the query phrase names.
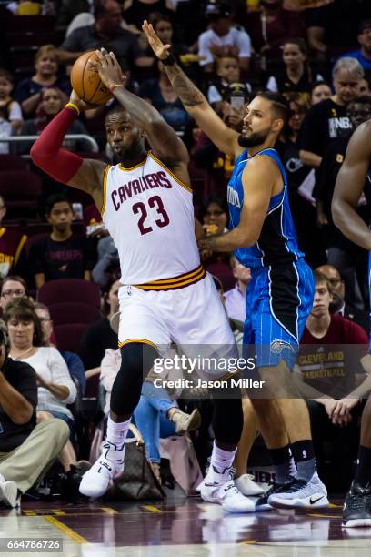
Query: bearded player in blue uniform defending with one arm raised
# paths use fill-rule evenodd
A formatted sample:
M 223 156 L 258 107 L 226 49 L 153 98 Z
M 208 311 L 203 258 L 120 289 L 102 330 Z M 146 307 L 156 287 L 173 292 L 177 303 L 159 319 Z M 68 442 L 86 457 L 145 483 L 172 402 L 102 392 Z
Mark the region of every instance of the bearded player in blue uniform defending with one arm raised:
M 290 373 L 312 308 L 314 281 L 297 247 L 286 172 L 274 149 L 288 116 L 286 102 L 269 92 L 256 96 L 247 106 L 242 134 L 236 133 L 177 66 L 170 46 L 163 45 L 153 27 L 145 22 L 143 30 L 186 110 L 216 146 L 236 160 L 227 191 L 232 229 L 201 240 L 200 246 L 235 251 L 236 258 L 252 270 L 245 342 L 255 343 L 259 373 L 272 395 L 252 397 L 252 403 L 276 471 L 276 484 L 256 502 L 256 510 L 269 505 L 326 507 L 306 402 L 295 394 Z M 288 398 L 285 384 L 294 397 Z

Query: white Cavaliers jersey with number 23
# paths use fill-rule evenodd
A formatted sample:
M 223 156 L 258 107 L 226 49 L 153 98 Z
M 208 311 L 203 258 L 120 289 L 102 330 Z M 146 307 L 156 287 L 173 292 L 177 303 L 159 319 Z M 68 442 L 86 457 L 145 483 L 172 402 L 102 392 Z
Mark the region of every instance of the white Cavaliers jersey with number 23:
M 122 284 L 174 289 L 205 276 L 192 190 L 151 151 L 135 167 L 105 168 L 102 218 L 118 251 Z

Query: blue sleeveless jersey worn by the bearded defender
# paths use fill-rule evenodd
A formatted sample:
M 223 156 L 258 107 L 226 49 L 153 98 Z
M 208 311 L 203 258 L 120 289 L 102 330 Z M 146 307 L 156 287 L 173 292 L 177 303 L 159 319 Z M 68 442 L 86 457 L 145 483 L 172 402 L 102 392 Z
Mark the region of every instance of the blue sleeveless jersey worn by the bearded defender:
M 236 249 L 238 261 L 250 268 L 262 268 L 275 263 L 290 263 L 304 257 L 297 246 L 296 230 L 291 216 L 287 196 L 287 177 L 285 167 L 276 149 L 264 149 L 255 157 L 266 155 L 276 161 L 284 181 L 282 192 L 271 197 L 260 238 L 250 248 Z M 229 228 L 238 226 L 244 204 L 242 173 L 248 164 L 247 150 L 237 159 L 232 177 L 228 183 L 227 198 L 229 207 Z M 259 187 L 259 184 L 255 185 Z

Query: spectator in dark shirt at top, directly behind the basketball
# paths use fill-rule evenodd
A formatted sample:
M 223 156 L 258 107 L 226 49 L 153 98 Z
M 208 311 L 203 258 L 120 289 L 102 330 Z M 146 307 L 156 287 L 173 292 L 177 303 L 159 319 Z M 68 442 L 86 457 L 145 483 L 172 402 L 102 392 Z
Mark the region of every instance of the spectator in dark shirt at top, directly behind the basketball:
M 95 7 L 95 24 L 78 27 L 65 38 L 57 53 L 59 60 L 68 64 L 87 50 L 101 46 L 115 56 L 124 72 L 137 67 L 152 66 L 153 57 L 147 58 L 138 46 L 133 33 L 122 27 L 121 6 L 115 0 L 106 0 Z

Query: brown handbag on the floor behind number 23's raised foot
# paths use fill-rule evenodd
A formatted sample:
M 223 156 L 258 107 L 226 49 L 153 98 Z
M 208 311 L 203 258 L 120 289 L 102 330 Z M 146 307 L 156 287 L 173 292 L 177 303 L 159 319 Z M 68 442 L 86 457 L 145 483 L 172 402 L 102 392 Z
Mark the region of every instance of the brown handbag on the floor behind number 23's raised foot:
M 124 471 L 105 493 L 104 499 L 106 501 L 165 499 L 165 493 L 146 459 L 145 441 L 140 431 L 133 424 L 130 424 L 129 429 L 134 438 L 126 438 Z

